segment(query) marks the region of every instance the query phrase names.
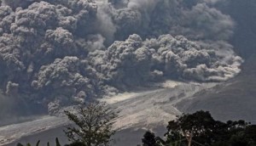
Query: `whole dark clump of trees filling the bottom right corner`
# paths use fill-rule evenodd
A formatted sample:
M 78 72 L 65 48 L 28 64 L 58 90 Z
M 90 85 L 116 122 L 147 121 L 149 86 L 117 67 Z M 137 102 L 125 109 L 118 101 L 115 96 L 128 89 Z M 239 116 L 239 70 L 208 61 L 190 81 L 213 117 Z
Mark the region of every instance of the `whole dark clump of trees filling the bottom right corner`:
M 164 139 L 146 132 L 142 141 L 143 146 L 255 146 L 256 126 L 245 121 L 215 121 L 209 112 L 197 111 L 169 121 Z

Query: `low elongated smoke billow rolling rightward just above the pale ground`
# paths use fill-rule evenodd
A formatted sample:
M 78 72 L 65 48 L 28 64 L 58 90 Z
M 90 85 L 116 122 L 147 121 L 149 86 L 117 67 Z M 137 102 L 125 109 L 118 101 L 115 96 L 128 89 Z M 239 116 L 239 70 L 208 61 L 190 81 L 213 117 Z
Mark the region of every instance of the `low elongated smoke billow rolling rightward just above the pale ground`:
M 131 35 L 125 42 L 113 42 L 107 51 L 91 53 L 90 61 L 116 86 L 161 77 L 226 81 L 240 72 L 242 60 L 234 54 L 224 55 L 222 50 L 231 46 L 223 43 L 191 42 L 184 36 L 171 35 L 143 42 L 140 36 Z

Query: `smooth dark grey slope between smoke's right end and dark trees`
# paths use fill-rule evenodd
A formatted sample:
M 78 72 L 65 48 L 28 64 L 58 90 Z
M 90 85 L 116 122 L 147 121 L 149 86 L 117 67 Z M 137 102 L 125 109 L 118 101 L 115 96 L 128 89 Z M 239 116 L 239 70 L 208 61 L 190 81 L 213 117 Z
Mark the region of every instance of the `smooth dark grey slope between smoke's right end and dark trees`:
M 177 109 L 193 113 L 208 110 L 218 120 L 244 119 L 256 123 L 256 64 L 255 56 L 243 65 L 243 71 L 230 81 L 196 93 L 177 104 Z

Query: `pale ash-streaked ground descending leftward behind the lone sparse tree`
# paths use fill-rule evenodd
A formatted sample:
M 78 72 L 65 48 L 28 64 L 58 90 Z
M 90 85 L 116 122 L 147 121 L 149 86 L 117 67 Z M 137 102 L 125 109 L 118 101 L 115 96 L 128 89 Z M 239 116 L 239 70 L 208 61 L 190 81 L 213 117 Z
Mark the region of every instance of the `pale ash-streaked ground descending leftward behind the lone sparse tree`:
M 128 139 L 136 138 L 145 130 L 161 132 L 168 121 L 175 119 L 181 112 L 175 105 L 184 98 L 189 98 L 195 93 L 208 88 L 215 87 L 216 83 L 195 83 L 180 81 L 165 81 L 160 84 L 151 85 L 132 93 L 121 93 L 117 96 L 101 99 L 119 111 L 119 118 L 115 121 L 114 129 L 117 130 L 114 143 L 118 144 Z M 35 121 L 26 121 L 20 124 L 0 127 L 0 145 L 20 142 L 37 143 L 35 138 L 54 141 L 58 136 L 63 143 L 67 139 L 60 130 L 70 124 L 67 117 L 44 116 Z M 50 134 L 50 132 L 55 134 Z M 133 134 L 127 134 L 131 132 Z M 49 134 L 44 134 L 49 133 Z M 127 137 L 121 135 L 127 134 Z M 48 135 L 48 136 L 47 136 Z M 137 137 L 139 139 L 140 137 Z M 139 143 L 137 140 L 132 143 Z

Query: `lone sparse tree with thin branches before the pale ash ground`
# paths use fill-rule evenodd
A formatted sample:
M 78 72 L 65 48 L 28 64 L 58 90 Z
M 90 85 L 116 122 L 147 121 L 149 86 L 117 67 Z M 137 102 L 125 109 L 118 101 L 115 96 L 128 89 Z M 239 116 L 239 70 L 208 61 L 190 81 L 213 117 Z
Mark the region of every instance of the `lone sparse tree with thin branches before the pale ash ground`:
M 65 111 L 65 114 L 75 125 L 64 131 L 69 141 L 84 143 L 85 146 L 98 146 L 108 145 L 112 140 L 113 120 L 117 114 L 107 104 L 83 104 L 79 105 L 76 112 Z

